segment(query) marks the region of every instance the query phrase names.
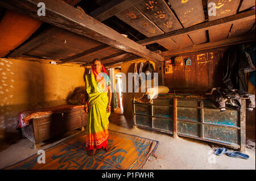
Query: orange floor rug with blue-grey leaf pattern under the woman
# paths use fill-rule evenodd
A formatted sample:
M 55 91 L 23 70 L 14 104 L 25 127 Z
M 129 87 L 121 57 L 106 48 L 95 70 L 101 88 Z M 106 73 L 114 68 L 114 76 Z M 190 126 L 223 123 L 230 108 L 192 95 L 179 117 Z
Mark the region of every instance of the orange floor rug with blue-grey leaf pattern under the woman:
M 102 149 L 90 157 L 85 151 L 86 133 L 82 132 L 30 158 L 15 163 L 5 169 L 24 170 L 134 170 L 141 169 L 151 153 L 154 153 L 158 141 L 131 134 L 109 130 L 108 145 L 110 151 Z

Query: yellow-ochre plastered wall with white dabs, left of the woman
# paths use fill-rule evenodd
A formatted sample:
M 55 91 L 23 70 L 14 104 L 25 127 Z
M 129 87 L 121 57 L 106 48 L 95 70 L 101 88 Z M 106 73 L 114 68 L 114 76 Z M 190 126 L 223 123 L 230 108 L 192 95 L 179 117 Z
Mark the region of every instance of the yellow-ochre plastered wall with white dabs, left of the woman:
M 0 139 L 17 132 L 18 113 L 67 103 L 84 68 L 0 58 Z

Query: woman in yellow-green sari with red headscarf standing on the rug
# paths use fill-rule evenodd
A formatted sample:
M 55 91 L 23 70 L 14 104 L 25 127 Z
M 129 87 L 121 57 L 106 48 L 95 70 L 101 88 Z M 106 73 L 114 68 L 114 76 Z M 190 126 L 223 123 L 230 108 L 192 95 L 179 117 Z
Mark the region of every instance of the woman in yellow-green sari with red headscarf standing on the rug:
M 108 128 L 112 99 L 109 76 L 98 58 L 93 60 L 90 74 L 85 75 L 85 87 L 88 98 L 85 101 L 85 111 L 88 113 L 85 149 L 93 156 L 97 149 L 109 151 Z

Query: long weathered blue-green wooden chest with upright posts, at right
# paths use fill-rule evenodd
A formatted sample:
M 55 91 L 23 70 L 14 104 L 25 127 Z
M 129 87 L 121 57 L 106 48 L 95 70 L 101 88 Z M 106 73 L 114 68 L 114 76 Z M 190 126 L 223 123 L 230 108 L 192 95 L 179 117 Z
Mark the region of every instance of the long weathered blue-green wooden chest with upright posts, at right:
M 171 134 L 176 129 L 180 136 L 245 151 L 245 99 L 240 111 L 226 108 L 224 112 L 207 98 L 159 96 L 152 104 L 133 100 L 133 120 L 136 127 Z

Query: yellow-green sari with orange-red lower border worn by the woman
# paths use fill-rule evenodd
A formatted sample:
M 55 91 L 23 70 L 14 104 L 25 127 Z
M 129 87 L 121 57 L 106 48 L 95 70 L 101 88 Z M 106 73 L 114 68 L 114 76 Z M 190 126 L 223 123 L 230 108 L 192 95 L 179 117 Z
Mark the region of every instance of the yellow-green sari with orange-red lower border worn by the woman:
M 89 95 L 86 150 L 105 149 L 108 145 L 110 112 L 106 110 L 109 102 L 110 79 L 105 73 L 100 73 L 100 76 L 102 79 L 97 81 L 92 69 L 90 74 L 85 75 L 86 92 Z

